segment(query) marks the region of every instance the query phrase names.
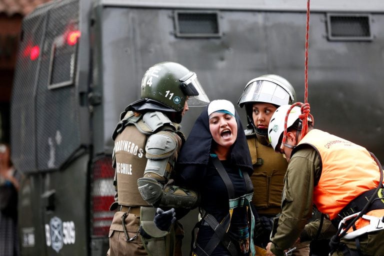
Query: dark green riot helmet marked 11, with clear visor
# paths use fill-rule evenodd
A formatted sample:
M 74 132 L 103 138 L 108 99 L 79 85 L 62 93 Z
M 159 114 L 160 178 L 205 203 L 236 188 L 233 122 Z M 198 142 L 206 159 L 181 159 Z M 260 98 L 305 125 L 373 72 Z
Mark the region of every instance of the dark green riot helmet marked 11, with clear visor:
M 176 62 L 160 62 L 146 70 L 141 80 L 141 98 L 159 102 L 164 111 L 181 112 L 188 105 L 206 105 L 209 99 L 195 72 Z

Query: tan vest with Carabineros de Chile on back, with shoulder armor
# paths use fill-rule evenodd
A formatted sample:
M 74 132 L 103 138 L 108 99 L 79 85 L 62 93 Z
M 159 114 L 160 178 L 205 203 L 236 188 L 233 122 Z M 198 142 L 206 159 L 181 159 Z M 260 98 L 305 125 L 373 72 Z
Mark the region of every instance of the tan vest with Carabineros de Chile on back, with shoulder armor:
M 146 119 L 145 116 L 147 116 Z M 154 118 L 157 117 L 158 119 L 153 122 L 150 116 L 155 116 Z M 113 166 L 117 177 L 118 204 L 150 206 L 143 200 L 137 187 L 137 179 L 143 177 L 147 162 L 145 157 L 146 140 L 155 132 L 167 130 L 174 132 L 175 136 L 179 136 L 181 143 L 183 143 L 184 134 L 179 130 L 178 124 L 172 123 L 161 112 L 147 112 L 144 116 L 134 116 L 132 111 L 127 111 L 123 112 L 120 118 L 121 120 L 112 135 L 114 139 Z

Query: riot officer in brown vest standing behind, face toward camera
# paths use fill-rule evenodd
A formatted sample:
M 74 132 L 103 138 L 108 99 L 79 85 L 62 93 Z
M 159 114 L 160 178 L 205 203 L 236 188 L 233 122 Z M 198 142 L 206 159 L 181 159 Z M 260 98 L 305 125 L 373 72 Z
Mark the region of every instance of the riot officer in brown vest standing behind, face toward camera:
M 276 155 L 270 146 L 267 128 L 277 107 L 295 99 L 294 88 L 288 80 L 276 74 L 265 74 L 247 82 L 237 102 L 240 107 L 245 106 L 248 121 L 245 134 L 254 170 L 250 178 L 255 188 L 252 203 L 260 217 L 254 242 L 259 247 L 266 246 L 272 219 L 281 211 L 281 191 L 287 167 L 286 160 Z M 294 255 L 308 255 L 307 245 L 297 246 Z

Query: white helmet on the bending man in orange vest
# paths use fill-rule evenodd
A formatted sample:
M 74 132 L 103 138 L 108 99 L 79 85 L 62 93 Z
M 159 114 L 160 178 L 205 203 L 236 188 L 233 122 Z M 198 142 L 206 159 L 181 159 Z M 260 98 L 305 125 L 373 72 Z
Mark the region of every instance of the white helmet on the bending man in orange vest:
M 272 117 L 270 118 L 268 125 L 268 138 L 269 142 L 272 145 L 273 149 L 279 152 L 278 146 L 280 146 L 280 139 L 282 139 L 282 133 L 284 131 L 284 120 L 286 112 L 288 111 L 291 105 L 282 105 L 279 106 L 276 111 L 274 111 Z M 301 120 L 299 115 L 301 114 L 301 108 L 294 106 L 288 115 L 288 120 L 286 123 L 286 128 L 288 129 L 297 121 L 297 129 L 301 129 Z

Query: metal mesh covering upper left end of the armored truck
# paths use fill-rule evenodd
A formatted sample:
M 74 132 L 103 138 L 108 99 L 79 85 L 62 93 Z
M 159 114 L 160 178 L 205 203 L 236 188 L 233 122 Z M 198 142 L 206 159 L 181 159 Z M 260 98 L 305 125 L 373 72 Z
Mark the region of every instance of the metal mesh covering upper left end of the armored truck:
M 22 171 L 56 168 L 79 147 L 76 87 L 48 89 L 52 43 L 77 29 L 78 7 L 77 0 L 57 1 L 23 20 L 11 107 L 12 157 Z M 27 49 L 33 45 L 40 54 L 32 61 Z M 69 67 L 65 57 L 54 60 L 55 70 L 74 68 L 75 59 Z

